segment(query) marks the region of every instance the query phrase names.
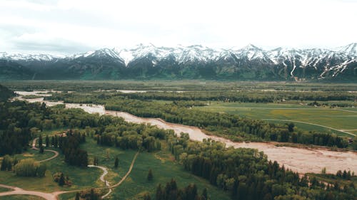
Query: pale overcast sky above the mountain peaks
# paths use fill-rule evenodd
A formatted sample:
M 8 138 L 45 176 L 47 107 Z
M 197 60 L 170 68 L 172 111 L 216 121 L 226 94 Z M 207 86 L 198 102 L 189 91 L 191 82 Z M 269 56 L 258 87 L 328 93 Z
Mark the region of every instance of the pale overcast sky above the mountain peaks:
M 0 52 L 201 44 L 333 48 L 357 41 L 357 0 L 0 0 Z

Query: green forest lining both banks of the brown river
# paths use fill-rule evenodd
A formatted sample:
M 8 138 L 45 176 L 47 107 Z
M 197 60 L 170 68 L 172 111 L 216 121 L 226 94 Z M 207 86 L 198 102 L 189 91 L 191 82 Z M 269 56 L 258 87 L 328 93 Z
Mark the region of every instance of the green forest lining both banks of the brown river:
M 86 100 L 76 95 L 62 100 L 86 103 Z M 336 135 L 296 130 L 293 123 L 277 125 L 237 115 L 190 109 L 191 106 L 200 106 L 199 101 L 158 103 L 154 100 L 129 99 L 127 96 L 107 98 L 99 95 L 91 103 L 103 103 L 108 110 L 121 110 L 142 117 L 161 117 L 168 122 L 194 125 L 238 141 L 266 140 L 341 148 L 348 145 L 346 140 Z M 225 144 L 214 140 L 193 142 L 185 133 L 175 135 L 173 130 L 133 124 L 109 115 L 89 114 L 81 109 L 65 109 L 64 105 L 47 107 L 44 103 L 16 100 L 0 102 L 0 110 L 0 155 L 23 152 L 29 148 L 30 140 L 39 137 L 44 130 L 61 128 L 67 129 L 66 136 L 46 137 L 46 146 L 61 149 L 64 161 L 79 168 L 89 164 L 88 154 L 81 149 L 81 144 L 93 138 L 99 147 L 141 152 L 158 152 L 167 146 L 174 160 L 186 172 L 206 179 L 213 186 L 228 192 L 231 199 L 355 200 L 357 196 L 353 181 L 350 184 L 340 184 L 339 181 L 329 184 L 308 175 L 299 177 L 297 172 L 268 160 L 257 149 L 226 148 Z M 1 170 L 14 169 L 21 176 L 21 172 L 24 172 L 21 166 L 24 165 L 31 166 L 33 170 L 29 174 L 22 174 L 23 176 L 41 177 L 46 172 L 46 168 L 31 159 L 17 161 L 9 159 L 9 156 L 2 159 Z M 355 178 L 353 173 L 346 171 L 328 176 L 333 179 Z M 197 194 L 194 184 L 179 189 L 172 179 L 166 186 L 158 185 L 155 194 L 146 194 L 144 199 L 206 200 L 206 192 L 203 190 L 202 194 Z

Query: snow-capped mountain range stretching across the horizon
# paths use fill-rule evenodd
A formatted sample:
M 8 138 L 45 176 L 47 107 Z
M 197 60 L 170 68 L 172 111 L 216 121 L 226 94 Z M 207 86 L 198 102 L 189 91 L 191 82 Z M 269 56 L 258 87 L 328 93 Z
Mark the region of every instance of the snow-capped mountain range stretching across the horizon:
M 268 51 L 253 45 L 244 48 L 215 49 L 200 45 L 169 48 L 140 44 L 134 48 L 101 48 L 73 56 L 0 53 L 0 59 L 19 63 L 29 70 L 34 70 L 34 73 L 41 73 L 41 70 L 49 70 L 48 68 L 53 70 L 54 67 L 51 65 L 56 66 L 57 70 L 60 70 L 61 66 L 63 70 L 76 69 L 79 78 L 83 78 L 83 74 L 93 74 L 95 69 L 97 73 L 100 66 L 102 68 L 110 66 L 118 78 L 124 77 L 124 74 L 120 73 L 129 73 L 129 68 L 135 68 L 140 69 L 139 77 L 144 78 L 161 76 L 159 73 L 165 73 L 167 76 L 171 73 L 171 78 L 186 78 L 187 76 L 188 78 L 221 77 L 253 80 L 254 75 L 244 75 L 248 74 L 248 70 L 251 69 L 255 75 L 259 75 L 258 80 L 268 80 L 270 75 L 275 76 L 274 80 L 276 78 L 282 80 L 323 79 L 337 76 L 357 79 L 357 43 L 331 50 L 275 48 Z M 41 65 L 41 70 L 38 65 Z M 118 71 L 117 68 L 122 69 Z M 158 71 L 158 68 L 161 70 Z M 195 73 L 189 73 L 189 75 L 182 73 L 189 71 L 190 68 L 194 68 Z M 151 73 L 148 72 L 150 70 L 155 71 L 154 75 L 150 76 Z M 99 71 L 102 72 L 104 69 Z M 175 73 L 173 74 L 172 71 Z M 130 71 L 132 77 L 135 77 L 134 73 Z

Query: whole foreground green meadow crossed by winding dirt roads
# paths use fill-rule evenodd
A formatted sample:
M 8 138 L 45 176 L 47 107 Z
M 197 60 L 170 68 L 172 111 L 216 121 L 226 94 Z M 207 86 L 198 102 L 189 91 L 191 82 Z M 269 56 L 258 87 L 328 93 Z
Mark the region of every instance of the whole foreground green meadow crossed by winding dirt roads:
M 181 164 L 174 161 L 171 153 L 166 149 L 166 142 L 163 143 L 163 149 L 160 152 L 141 152 L 139 157 L 136 159 L 134 164 L 134 169 L 132 170 L 129 177 L 121 184 L 119 187 L 115 188 L 111 197 L 114 199 L 138 199 L 143 191 L 149 191 L 153 196 L 156 186 L 161 184 L 166 184 L 171 178 L 176 179 L 178 186 L 183 187 L 188 184 L 195 183 L 198 186 L 198 192 L 201 193 L 203 188 L 208 189 L 208 195 L 211 199 L 229 199 L 229 194 L 221 191 L 209 184 L 205 179 L 196 177 L 190 172 L 183 170 Z M 81 144 L 81 149 L 85 149 L 89 154 L 89 164 L 92 164 L 94 157 L 99 158 L 99 166 L 104 166 L 109 169 L 109 174 L 106 175 L 105 179 L 111 183 L 111 185 L 116 184 L 121 180 L 121 178 L 129 170 L 136 151 L 126 150 L 123 151 L 115 147 L 105 147 L 96 144 L 96 141 L 87 137 L 84 144 Z M 22 154 L 16 154 L 13 157 L 17 159 L 33 158 L 35 160 L 42 160 L 52 157 L 52 152 L 44 152 L 44 154 L 39 154 L 37 150 L 28 149 Z M 119 167 L 114 169 L 114 159 L 119 157 Z M 19 186 L 22 189 L 34 190 L 34 191 L 71 191 L 76 189 L 90 189 L 97 187 L 104 187 L 104 183 L 99 179 L 102 174 L 101 169 L 97 168 L 79 168 L 69 166 L 64 162 L 63 155 L 60 154 L 59 157 L 45 162 L 47 166 L 46 177 L 17 177 L 12 172 L 2 172 L 0 171 L 0 182 L 1 184 L 6 184 L 9 186 Z M 154 180 L 148 182 L 146 176 L 148 170 L 152 169 L 154 174 Z M 56 182 L 53 181 L 52 174 L 55 172 L 64 172 L 65 175 L 69 176 L 69 179 L 73 181 L 71 187 L 58 186 Z M 1 188 L 0 191 L 7 191 L 7 189 Z M 103 191 L 106 193 L 106 191 Z M 61 194 L 59 199 L 74 199 L 75 193 Z M 27 196 L 28 199 L 33 198 L 32 196 Z M 27 198 L 26 197 L 26 198 Z M 6 196 L 9 199 L 10 196 Z M 11 198 L 22 198 L 24 196 L 11 196 Z M 34 197 L 36 199 L 36 197 Z

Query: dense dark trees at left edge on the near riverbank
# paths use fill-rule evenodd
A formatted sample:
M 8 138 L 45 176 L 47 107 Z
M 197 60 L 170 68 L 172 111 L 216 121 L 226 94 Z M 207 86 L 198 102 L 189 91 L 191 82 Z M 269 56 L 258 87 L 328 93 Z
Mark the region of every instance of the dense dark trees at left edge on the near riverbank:
M 64 105 L 46 107 L 44 103 L 24 101 L 0 102 L 0 110 L 0 155 L 22 152 L 42 130 L 98 127 L 115 121 L 112 117 L 89 115 L 81 109 L 67 110 Z M 59 145 L 59 140 L 52 138 L 51 145 Z

